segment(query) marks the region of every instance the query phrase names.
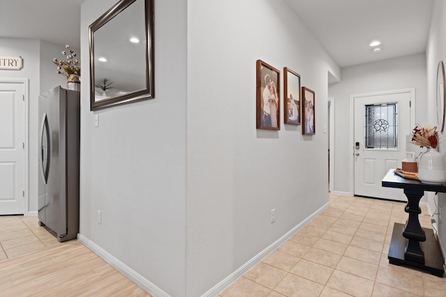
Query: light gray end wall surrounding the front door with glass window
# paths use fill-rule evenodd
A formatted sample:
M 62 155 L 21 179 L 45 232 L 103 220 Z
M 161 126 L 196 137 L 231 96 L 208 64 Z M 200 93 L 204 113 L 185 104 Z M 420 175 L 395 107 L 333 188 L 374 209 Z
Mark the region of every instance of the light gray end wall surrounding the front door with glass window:
M 350 95 L 415 88 L 415 122 L 426 121 L 426 58 L 416 54 L 341 70 L 341 82 L 328 89 L 334 97 L 334 192 L 351 193 Z M 406 131 L 409 134 L 410 131 Z

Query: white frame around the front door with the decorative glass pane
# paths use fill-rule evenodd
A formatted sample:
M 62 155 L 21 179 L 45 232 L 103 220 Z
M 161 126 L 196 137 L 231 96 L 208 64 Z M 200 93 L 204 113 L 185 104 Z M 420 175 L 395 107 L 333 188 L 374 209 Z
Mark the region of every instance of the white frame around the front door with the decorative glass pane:
M 350 167 L 350 179 L 348 179 L 350 188 L 349 195 L 353 196 L 355 195 L 355 99 L 360 97 L 369 97 L 369 96 L 376 96 L 376 95 L 393 95 L 393 94 L 401 94 L 401 93 L 409 93 L 410 94 L 410 127 L 415 127 L 415 88 L 406 88 L 406 89 L 399 89 L 399 90 L 387 90 L 387 91 L 380 91 L 380 92 L 373 92 L 373 93 L 363 93 L 363 94 L 356 94 L 356 95 L 350 95 L 350 150 L 348 152 L 350 158 L 349 158 L 349 167 Z M 407 132 L 409 134 L 410 131 Z

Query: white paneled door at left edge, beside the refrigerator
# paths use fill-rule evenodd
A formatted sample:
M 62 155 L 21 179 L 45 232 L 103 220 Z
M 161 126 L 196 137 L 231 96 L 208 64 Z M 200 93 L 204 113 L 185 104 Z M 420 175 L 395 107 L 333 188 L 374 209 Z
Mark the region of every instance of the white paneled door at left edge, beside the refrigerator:
M 0 215 L 25 211 L 24 83 L 0 81 Z

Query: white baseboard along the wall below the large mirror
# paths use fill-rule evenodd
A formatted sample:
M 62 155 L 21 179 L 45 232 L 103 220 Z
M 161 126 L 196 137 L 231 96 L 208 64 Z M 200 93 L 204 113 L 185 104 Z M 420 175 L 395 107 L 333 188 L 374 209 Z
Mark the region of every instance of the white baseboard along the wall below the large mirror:
M 129 266 L 123 264 L 123 262 L 119 261 L 113 255 L 109 254 L 106 250 L 98 246 L 96 243 L 86 238 L 82 234 L 77 234 L 77 241 L 82 243 L 86 248 L 89 248 L 96 255 L 101 257 L 105 262 L 110 264 L 117 271 L 122 273 L 126 278 L 137 284 L 138 287 L 146 291 L 148 294 L 156 297 L 171 297 L 169 294 L 164 292 L 162 289 L 158 288 L 152 282 L 148 281 L 146 278 L 141 276 L 139 273 L 134 271 Z

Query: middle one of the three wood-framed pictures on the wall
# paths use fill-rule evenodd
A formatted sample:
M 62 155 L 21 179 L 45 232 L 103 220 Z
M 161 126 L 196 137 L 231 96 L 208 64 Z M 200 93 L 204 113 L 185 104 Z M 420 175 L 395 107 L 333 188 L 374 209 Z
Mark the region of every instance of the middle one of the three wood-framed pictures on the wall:
M 284 67 L 284 122 L 300 125 L 300 75 Z

